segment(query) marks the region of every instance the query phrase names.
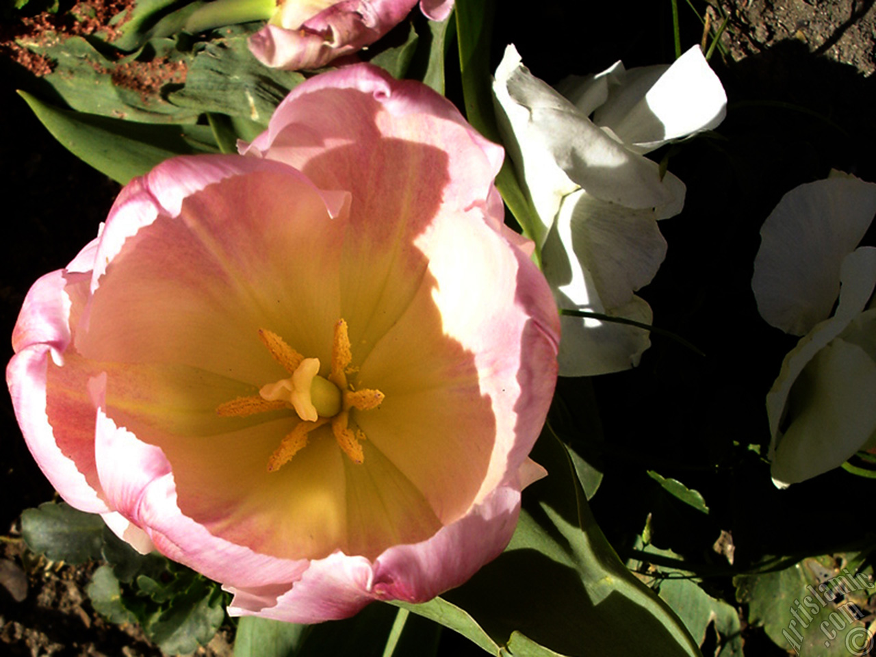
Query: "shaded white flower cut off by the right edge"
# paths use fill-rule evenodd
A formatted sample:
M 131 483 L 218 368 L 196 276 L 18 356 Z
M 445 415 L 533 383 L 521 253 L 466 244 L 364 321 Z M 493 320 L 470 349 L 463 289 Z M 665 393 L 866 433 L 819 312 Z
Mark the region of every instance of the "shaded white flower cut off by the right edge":
M 805 333 L 767 393 L 780 488 L 876 448 L 876 248 L 855 248 L 874 212 L 876 184 L 833 172 L 785 194 L 760 230 L 752 278 L 760 314 Z

